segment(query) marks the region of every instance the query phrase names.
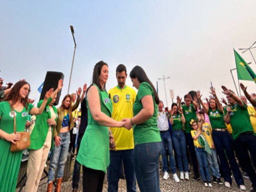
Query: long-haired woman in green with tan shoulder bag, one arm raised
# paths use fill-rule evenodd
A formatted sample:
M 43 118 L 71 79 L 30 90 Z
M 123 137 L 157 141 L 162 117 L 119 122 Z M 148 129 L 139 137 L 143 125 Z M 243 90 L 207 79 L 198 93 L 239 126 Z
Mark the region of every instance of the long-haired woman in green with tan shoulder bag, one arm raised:
M 0 102 L 0 191 L 15 191 L 23 151 L 11 152 L 10 146 L 20 140 L 18 132 L 24 131 L 29 114 L 37 115 L 43 112 L 53 90 L 46 92 L 40 108 L 29 103 L 29 92 L 28 82 L 19 81 L 4 101 Z M 16 116 L 16 134 L 14 133 L 14 116 Z

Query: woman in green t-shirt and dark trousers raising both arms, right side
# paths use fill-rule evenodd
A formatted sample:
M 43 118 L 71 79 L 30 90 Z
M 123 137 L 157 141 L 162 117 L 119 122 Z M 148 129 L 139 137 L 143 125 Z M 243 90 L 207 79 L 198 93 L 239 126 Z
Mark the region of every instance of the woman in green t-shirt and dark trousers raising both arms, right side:
M 241 187 L 244 186 L 244 180 L 242 174 L 236 163 L 234 148 L 232 144 L 232 138 L 227 131 L 227 127 L 224 121 L 223 107 L 220 104 L 220 101 L 216 95 L 215 88 L 211 87 L 211 94 L 214 98 L 211 98 L 209 101 L 209 108 L 202 102 L 200 91 L 197 91 L 197 97 L 199 102 L 202 104 L 206 114 L 208 114 L 210 123 L 212 126 L 212 140 L 216 148 L 216 152 L 220 159 L 220 164 L 223 170 L 224 184 L 226 187 L 230 188 L 232 184 L 232 178 L 230 174 L 230 168 L 233 172 L 236 184 Z M 228 156 L 228 161 L 226 159 Z M 217 160 L 216 160 L 217 161 Z M 229 162 L 229 163 L 228 163 Z M 220 178 L 217 178 L 217 182 L 221 183 Z

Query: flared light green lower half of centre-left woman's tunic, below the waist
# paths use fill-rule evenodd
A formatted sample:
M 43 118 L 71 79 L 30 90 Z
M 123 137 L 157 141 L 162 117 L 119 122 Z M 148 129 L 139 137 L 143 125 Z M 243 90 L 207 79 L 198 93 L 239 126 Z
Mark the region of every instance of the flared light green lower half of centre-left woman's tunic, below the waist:
M 87 168 L 106 172 L 110 162 L 108 127 L 87 126 L 76 160 Z

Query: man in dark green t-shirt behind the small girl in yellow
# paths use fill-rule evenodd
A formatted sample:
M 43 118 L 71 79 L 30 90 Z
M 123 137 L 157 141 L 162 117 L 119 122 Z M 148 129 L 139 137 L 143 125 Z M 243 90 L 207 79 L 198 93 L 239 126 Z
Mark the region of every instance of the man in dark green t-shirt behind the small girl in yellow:
M 186 119 L 185 122 L 185 137 L 186 137 L 186 142 L 190 151 L 190 156 L 192 159 L 192 164 L 193 164 L 193 170 L 194 170 L 194 177 L 193 177 L 193 181 L 198 181 L 200 180 L 199 177 L 199 172 L 198 172 L 198 164 L 197 164 L 197 159 L 196 159 L 196 152 L 195 152 L 195 148 L 194 148 L 194 141 L 193 138 L 191 136 L 190 131 L 191 126 L 190 126 L 190 121 L 192 119 L 197 120 L 196 118 L 196 110 L 198 108 L 198 103 L 195 102 L 194 100 L 192 100 L 192 97 L 190 94 L 186 94 L 184 96 L 184 100 L 185 100 L 185 105 L 181 106 L 181 99 L 178 96 L 177 97 L 177 102 L 178 102 L 178 108 L 182 107 L 183 110 L 183 114 L 184 117 Z M 192 104 L 191 104 L 192 102 Z

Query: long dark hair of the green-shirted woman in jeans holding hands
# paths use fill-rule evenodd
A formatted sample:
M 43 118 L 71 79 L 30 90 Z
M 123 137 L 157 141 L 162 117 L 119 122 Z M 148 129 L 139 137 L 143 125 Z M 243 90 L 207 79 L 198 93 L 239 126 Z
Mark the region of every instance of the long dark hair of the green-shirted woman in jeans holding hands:
M 152 82 L 148 79 L 146 72 L 142 69 L 141 66 L 137 65 L 131 70 L 130 78 L 137 78 L 140 83 L 147 82 L 148 84 L 150 84 L 150 86 L 152 87 L 152 89 L 154 91 L 155 102 L 156 102 L 156 104 L 159 104 L 159 97 L 156 92 L 156 89 L 154 88 Z

